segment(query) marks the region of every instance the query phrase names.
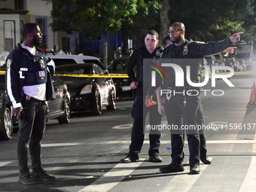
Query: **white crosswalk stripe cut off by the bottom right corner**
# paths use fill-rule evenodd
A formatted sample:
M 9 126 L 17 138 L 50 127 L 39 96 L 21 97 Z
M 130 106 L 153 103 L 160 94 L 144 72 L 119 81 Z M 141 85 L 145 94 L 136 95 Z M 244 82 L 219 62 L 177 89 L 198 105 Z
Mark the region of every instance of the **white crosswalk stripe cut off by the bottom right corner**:
M 248 172 L 239 192 L 254 192 L 256 189 L 256 157 L 251 157 L 251 163 Z

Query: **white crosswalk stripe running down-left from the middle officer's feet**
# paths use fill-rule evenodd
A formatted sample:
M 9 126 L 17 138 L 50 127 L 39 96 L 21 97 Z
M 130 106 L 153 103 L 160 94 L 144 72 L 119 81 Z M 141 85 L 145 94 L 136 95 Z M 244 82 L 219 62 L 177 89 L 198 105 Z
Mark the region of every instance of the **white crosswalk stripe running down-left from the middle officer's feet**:
M 102 177 L 98 178 L 92 184 L 84 189 L 79 190 L 79 192 L 105 192 L 111 190 L 115 185 L 117 185 L 123 178 L 130 175 L 137 167 L 139 167 L 145 159 L 140 159 L 136 163 L 118 163 L 109 172 L 106 172 Z

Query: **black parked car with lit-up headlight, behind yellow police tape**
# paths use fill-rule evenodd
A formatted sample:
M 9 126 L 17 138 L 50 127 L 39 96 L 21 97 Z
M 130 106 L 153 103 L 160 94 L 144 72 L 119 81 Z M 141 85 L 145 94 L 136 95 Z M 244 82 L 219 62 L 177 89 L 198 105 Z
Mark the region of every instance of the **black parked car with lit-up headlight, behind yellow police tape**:
M 78 65 L 79 64 L 79 65 Z M 81 78 L 79 75 L 104 75 L 106 71 L 96 63 L 78 63 L 56 66 L 59 76 L 71 94 L 71 111 L 101 114 L 102 107 L 108 110 L 116 108 L 116 90 L 112 78 Z

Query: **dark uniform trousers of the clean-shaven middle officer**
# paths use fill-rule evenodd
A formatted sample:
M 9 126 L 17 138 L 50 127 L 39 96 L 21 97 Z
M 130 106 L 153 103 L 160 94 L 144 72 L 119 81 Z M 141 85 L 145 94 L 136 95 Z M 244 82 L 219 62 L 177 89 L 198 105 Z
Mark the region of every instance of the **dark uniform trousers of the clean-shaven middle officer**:
M 155 100 L 155 98 L 154 98 Z M 131 144 L 129 155 L 134 156 L 142 151 L 142 145 L 144 142 L 144 127 L 147 114 L 149 112 L 150 125 L 160 125 L 162 116 L 157 111 L 157 105 L 150 107 L 145 106 L 145 98 L 143 95 L 136 96 L 133 104 L 133 130 L 131 136 Z M 150 148 L 148 155 L 159 154 L 160 148 L 160 130 L 150 130 L 149 133 Z

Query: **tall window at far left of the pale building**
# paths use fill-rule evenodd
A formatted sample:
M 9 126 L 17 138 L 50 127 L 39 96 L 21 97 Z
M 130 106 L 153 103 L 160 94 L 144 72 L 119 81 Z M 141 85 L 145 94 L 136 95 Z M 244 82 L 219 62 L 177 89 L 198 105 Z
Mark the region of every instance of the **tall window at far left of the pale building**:
M 14 21 L 5 21 L 5 50 L 8 52 L 11 52 L 15 45 L 14 26 Z

